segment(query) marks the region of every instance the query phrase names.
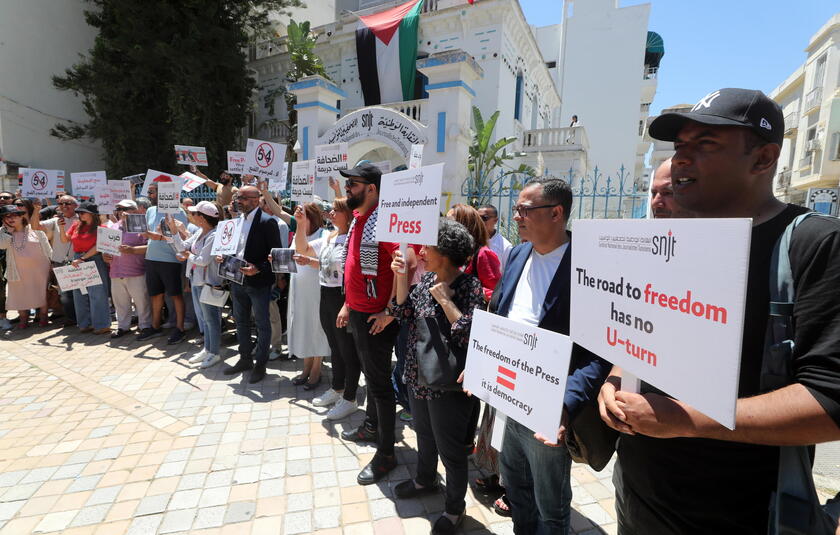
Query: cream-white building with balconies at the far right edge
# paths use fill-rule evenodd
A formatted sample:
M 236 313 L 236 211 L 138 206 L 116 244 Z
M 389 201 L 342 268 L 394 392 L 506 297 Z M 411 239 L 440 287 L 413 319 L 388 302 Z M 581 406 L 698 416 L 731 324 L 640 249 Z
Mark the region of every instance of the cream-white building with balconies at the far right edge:
M 805 62 L 770 93 L 785 115 L 776 195 L 821 208 L 814 203 L 821 201 L 815 196 L 822 193 L 833 196 L 836 211 L 840 196 L 840 13 L 817 30 L 805 52 Z

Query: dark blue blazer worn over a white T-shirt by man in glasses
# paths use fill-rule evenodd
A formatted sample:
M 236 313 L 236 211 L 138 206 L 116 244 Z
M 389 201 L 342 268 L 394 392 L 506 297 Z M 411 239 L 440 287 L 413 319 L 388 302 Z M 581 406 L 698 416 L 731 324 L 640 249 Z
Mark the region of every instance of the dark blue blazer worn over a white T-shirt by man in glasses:
M 572 243 L 569 233 L 569 247 L 560 266 L 554 274 L 543 303 L 542 320 L 539 327 L 560 334 L 569 334 L 569 297 L 572 272 Z M 514 247 L 508 257 L 505 271 L 502 278 L 493 291 L 493 301 L 490 303 L 490 312 L 507 317 L 510 306 L 513 302 L 513 295 L 525 262 L 531 256 L 533 247 L 530 243 L 523 243 Z M 494 303 L 496 306 L 494 309 Z M 612 365 L 606 360 L 595 355 L 591 351 L 574 344 L 572 346 L 572 360 L 569 366 L 569 377 L 566 380 L 566 395 L 563 398 L 569 421 L 574 419 L 584 403 L 595 400 L 598 391 L 604 383 Z

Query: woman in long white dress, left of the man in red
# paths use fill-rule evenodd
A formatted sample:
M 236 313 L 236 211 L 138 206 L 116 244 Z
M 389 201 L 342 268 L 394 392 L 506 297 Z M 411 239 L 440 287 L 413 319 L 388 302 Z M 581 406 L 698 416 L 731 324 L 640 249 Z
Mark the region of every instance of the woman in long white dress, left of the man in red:
M 301 267 L 291 274 L 289 285 L 289 354 L 303 357 L 304 361 L 303 372 L 292 379 L 292 384 L 312 390 L 321 382 L 321 361 L 330 355 L 330 345 L 321 327 L 319 270 L 301 251 L 321 237 L 321 208 L 315 203 L 298 206 L 295 221 L 295 261 Z

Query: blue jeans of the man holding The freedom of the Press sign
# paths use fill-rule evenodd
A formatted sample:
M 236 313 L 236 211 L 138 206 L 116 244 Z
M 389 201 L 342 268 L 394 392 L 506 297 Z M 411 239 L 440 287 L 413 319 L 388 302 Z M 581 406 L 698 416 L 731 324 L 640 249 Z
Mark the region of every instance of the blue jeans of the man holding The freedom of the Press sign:
M 546 446 L 507 419 L 500 468 L 516 535 L 569 533 L 572 459 L 564 446 Z

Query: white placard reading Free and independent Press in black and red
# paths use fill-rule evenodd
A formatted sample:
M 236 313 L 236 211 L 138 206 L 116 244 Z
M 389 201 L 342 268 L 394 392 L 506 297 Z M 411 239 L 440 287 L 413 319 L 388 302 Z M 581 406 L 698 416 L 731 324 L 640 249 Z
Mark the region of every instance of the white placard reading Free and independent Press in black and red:
M 437 244 L 443 164 L 382 176 L 376 240 Z

